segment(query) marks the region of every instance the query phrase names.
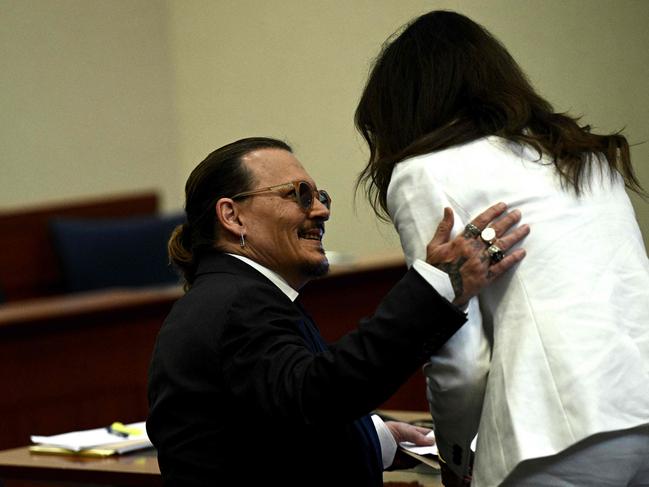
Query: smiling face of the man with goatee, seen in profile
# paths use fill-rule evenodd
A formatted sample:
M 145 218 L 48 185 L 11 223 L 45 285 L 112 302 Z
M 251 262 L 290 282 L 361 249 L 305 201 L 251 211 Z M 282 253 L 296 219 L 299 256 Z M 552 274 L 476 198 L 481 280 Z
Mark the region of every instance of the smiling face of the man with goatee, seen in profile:
M 259 149 L 246 154 L 244 164 L 253 175 L 251 190 L 291 181 L 315 182 L 293 154 L 282 149 Z M 244 255 L 274 270 L 295 289 L 329 269 L 322 246 L 329 210 L 314 195 L 313 205 L 300 207 L 292 188 L 256 194 L 237 202 L 246 236 Z

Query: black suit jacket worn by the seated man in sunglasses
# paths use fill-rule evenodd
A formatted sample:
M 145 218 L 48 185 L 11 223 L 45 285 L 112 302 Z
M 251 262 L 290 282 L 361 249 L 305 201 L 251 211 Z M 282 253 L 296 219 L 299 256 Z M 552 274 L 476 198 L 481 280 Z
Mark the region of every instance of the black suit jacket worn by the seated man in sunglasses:
M 149 370 L 147 431 L 165 484 L 381 485 L 364 416 L 464 321 L 411 270 L 372 318 L 325 348 L 257 270 L 205 256 Z

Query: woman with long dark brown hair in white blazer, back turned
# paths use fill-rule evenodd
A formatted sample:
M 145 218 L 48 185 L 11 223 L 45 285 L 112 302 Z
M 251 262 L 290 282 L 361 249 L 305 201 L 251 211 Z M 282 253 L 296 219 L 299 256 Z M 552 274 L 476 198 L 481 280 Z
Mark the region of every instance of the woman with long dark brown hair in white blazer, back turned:
M 626 139 L 556 113 L 500 42 L 448 11 L 386 42 L 356 125 L 359 185 L 409 263 L 446 206 L 467 236 L 493 200 L 533 228 L 527 259 L 425 367 L 446 466 L 470 478 L 479 431 L 474 487 L 647 485 L 649 262 Z M 499 235 L 481 237 L 502 258 Z

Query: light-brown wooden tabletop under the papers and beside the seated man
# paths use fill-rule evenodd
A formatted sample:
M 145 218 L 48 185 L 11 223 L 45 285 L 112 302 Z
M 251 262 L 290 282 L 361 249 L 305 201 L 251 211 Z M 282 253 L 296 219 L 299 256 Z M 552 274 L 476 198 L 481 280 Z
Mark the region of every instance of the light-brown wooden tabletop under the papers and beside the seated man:
M 429 417 L 427 412 L 382 412 L 403 421 Z M 383 479 L 385 487 L 442 487 L 440 476 L 430 470 L 385 472 Z M 0 480 L 4 482 L 4 487 L 43 487 L 34 481 L 47 482 L 49 485 L 162 486 L 158 460 L 153 449 L 109 458 L 84 458 L 33 454 L 28 447 L 14 448 L 0 452 Z M 305 485 L 308 485 L 307 480 Z M 341 485 L 344 485 L 344 475 L 341 477 Z

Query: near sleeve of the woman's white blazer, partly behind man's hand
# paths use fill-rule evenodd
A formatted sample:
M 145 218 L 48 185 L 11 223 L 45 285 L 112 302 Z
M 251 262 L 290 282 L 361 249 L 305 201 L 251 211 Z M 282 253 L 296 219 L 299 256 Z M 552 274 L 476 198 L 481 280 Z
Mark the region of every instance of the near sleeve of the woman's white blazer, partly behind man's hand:
M 444 191 L 425 163 L 395 170 L 388 204 L 409 265 L 425 257 L 444 207 L 451 207 L 455 215 L 453 237 L 475 216 Z M 460 476 L 469 473 L 470 445 L 478 430 L 491 357 L 477 298 L 469 302 L 467 317 L 467 323 L 424 366 L 438 448 Z

